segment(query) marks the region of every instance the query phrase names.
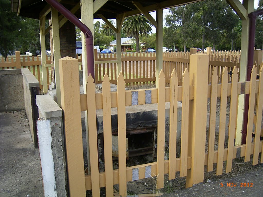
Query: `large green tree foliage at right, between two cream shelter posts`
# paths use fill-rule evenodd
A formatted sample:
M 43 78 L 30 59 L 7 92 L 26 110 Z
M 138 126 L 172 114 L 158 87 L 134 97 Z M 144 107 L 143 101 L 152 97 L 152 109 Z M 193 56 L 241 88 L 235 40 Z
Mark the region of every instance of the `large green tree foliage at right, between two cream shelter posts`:
M 213 46 L 240 48 L 240 19 L 224 0 L 206 0 L 169 9 L 165 17 L 164 43 L 183 49 Z M 174 34 L 174 35 L 173 35 Z M 170 43 L 170 44 L 169 44 Z M 168 45 L 169 44 L 169 45 Z

